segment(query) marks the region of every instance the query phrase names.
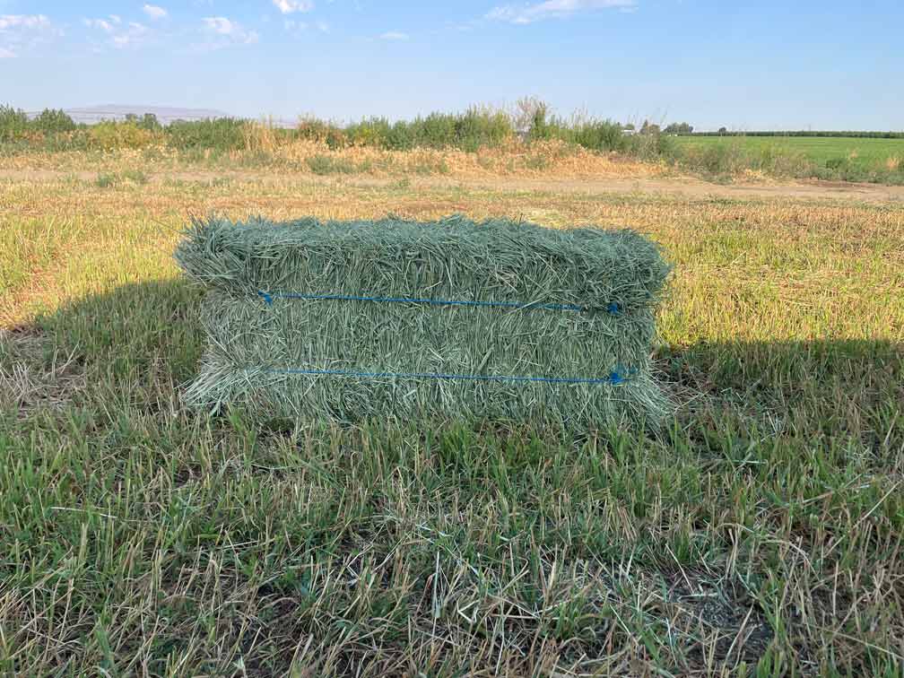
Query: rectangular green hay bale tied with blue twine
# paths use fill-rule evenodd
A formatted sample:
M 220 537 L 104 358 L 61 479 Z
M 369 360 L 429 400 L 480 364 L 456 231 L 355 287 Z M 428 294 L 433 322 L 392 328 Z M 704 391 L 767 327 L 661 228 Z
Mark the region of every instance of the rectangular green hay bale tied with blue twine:
M 175 259 L 211 290 L 198 405 L 580 427 L 668 411 L 649 353 L 669 267 L 633 231 L 211 219 Z

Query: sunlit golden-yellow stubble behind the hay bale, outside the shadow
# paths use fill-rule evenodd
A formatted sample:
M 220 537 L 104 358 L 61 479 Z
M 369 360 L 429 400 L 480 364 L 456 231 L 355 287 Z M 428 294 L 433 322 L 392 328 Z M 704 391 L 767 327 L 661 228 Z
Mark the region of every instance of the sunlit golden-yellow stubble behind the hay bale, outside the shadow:
M 679 297 L 693 298 L 695 288 L 721 287 L 730 272 L 738 293 L 767 288 L 773 297 L 803 305 L 803 312 L 809 308 L 831 319 L 850 336 L 875 337 L 882 327 L 879 336 L 899 339 L 904 325 L 893 313 L 882 312 L 883 299 L 904 287 L 904 250 L 896 245 L 904 240 L 902 211 L 862 203 L 538 193 L 407 181 L 370 186 L 315 182 L 299 175 L 254 175 L 162 179 L 151 186 L 124 181 L 101 187 L 74 178 L 10 182 L 0 193 L 0 209 L 17 215 L 7 236 L 33 243 L 21 258 L 33 261 L 28 264 L 30 283 L 17 286 L 15 294 L 0 302 L 0 315 L 7 320 L 59 299 L 61 278 L 54 265 L 77 268 L 80 260 L 93 257 L 110 258 L 112 264 L 124 254 L 128 259 L 144 252 L 172 271 L 167 253 L 188 214 L 376 219 L 394 212 L 436 219 L 462 212 L 477 218 L 522 217 L 553 227 L 630 225 L 663 242 L 680 264 L 681 275 L 674 282 Z M 134 230 L 118 234 L 117 224 L 140 220 L 145 220 L 140 238 Z M 127 237 L 125 252 L 111 247 L 122 237 Z M 707 243 L 705 249 L 702 243 Z M 148 250 L 150 245 L 153 250 Z M 61 252 L 69 256 L 61 257 Z M 864 276 L 864 271 L 871 275 Z M 877 323 L 863 325 L 862 314 Z M 760 334 L 772 338 L 800 337 L 808 326 L 788 315 L 758 318 L 758 323 L 763 324 Z M 725 319 L 722 332 L 752 336 L 758 334 L 756 326 Z M 816 325 L 807 335 L 816 336 L 823 327 Z

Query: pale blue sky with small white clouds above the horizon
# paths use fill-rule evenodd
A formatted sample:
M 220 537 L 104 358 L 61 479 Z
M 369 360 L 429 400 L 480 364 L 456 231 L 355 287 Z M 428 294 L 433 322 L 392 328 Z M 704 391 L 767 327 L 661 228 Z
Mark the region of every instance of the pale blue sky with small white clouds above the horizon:
M 0 0 L 0 103 L 904 129 L 904 3 Z

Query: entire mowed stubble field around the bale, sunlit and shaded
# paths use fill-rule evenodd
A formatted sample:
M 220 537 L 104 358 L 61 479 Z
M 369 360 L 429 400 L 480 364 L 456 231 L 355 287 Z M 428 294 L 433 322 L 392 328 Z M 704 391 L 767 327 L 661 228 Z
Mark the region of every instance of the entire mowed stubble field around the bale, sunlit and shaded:
M 904 669 L 900 202 L 76 170 L 0 179 L 0 673 Z M 188 410 L 200 293 L 171 253 L 211 212 L 634 227 L 675 267 L 676 416 Z

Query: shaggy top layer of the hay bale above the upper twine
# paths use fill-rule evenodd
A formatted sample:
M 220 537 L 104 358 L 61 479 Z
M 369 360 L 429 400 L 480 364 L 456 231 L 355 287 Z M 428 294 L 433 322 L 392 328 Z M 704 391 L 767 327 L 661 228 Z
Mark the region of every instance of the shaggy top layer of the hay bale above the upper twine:
M 547 229 L 463 217 L 272 223 L 194 221 L 175 251 L 191 278 L 258 290 L 372 297 L 653 305 L 669 267 L 634 231 Z

